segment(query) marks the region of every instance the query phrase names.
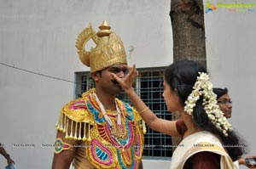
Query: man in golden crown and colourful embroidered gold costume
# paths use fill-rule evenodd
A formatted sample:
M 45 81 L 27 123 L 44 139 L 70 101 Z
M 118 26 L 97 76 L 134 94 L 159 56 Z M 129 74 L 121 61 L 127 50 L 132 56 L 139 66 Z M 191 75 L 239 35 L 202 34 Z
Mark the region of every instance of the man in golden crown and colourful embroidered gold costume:
M 75 169 L 143 168 L 144 123 L 137 110 L 116 98 L 122 88 L 111 76 L 126 76 L 125 48 L 105 20 L 99 28 L 96 33 L 89 25 L 76 42 L 96 87 L 61 109 L 53 169 L 68 169 L 72 162 Z M 90 39 L 96 48 L 85 51 Z

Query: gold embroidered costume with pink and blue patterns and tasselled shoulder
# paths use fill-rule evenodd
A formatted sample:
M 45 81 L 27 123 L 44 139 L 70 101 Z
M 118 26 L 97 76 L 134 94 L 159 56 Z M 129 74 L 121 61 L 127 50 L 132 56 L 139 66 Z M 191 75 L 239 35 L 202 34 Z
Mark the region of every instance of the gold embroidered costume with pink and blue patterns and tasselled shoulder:
M 113 137 L 111 128 L 96 102 L 94 89 L 61 109 L 57 130 L 65 132 L 66 138 L 84 141 L 82 147 L 86 156 L 80 156 L 79 161 L 87 158 L 96 168 L 138 168 L 144 143 L 142 119 L 129 104 L 119 99 L 116 102 L 121 111 L 121 137 Z M 115 122 L 117 113 L 108 111 L 107 115 L 113 122 L 113 128 L 118 128 Z M 67 131 L 69 125 L 74 128 L 74 132 Z M 56 149 L 55 151 L 58 152 Z

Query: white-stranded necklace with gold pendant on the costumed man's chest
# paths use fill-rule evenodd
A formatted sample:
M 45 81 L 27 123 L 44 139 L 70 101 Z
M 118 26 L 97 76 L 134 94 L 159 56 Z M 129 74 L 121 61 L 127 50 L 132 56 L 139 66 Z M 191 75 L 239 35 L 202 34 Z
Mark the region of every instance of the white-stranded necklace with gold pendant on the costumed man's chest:
M 118 121 L 117 121 L 117 125 L 116 125 L 117 127 L 115 128 L 113 126 L 113 122 L 108 117 L 107 112 L 106 112 L 102 102 L 98 99 L 96 93 L 94 93 L 94 97 L 96 99 L 97 104 L 100 106 L 100 109 L 102 111 L 105 121 L 107 121 L 107 123 L 108 123 L 108 127 L 110 128 L 111 137 L 119 142 L 119 140 L 118 140 L 119 138 L 125 138 L 125 131 L 124 131 L 124 127 L 122 127 L 122 125 L 121 125 L 121 111 L 119 109 L 117 102 L 116 101 L 114 102 L 115 108 L 117 111 L 117 115 L 118 115 Z

